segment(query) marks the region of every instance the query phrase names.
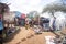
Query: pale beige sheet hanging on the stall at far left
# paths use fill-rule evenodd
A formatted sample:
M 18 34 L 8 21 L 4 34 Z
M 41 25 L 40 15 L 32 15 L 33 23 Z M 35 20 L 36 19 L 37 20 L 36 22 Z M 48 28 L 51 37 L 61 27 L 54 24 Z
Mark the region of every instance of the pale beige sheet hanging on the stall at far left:
M 9 23 L 12 23 L 12 22 L 14 22 L 14 18 L 15 18 L 15 13 L 9 12 L 9 13 L 4 13 L 3 20 Z

